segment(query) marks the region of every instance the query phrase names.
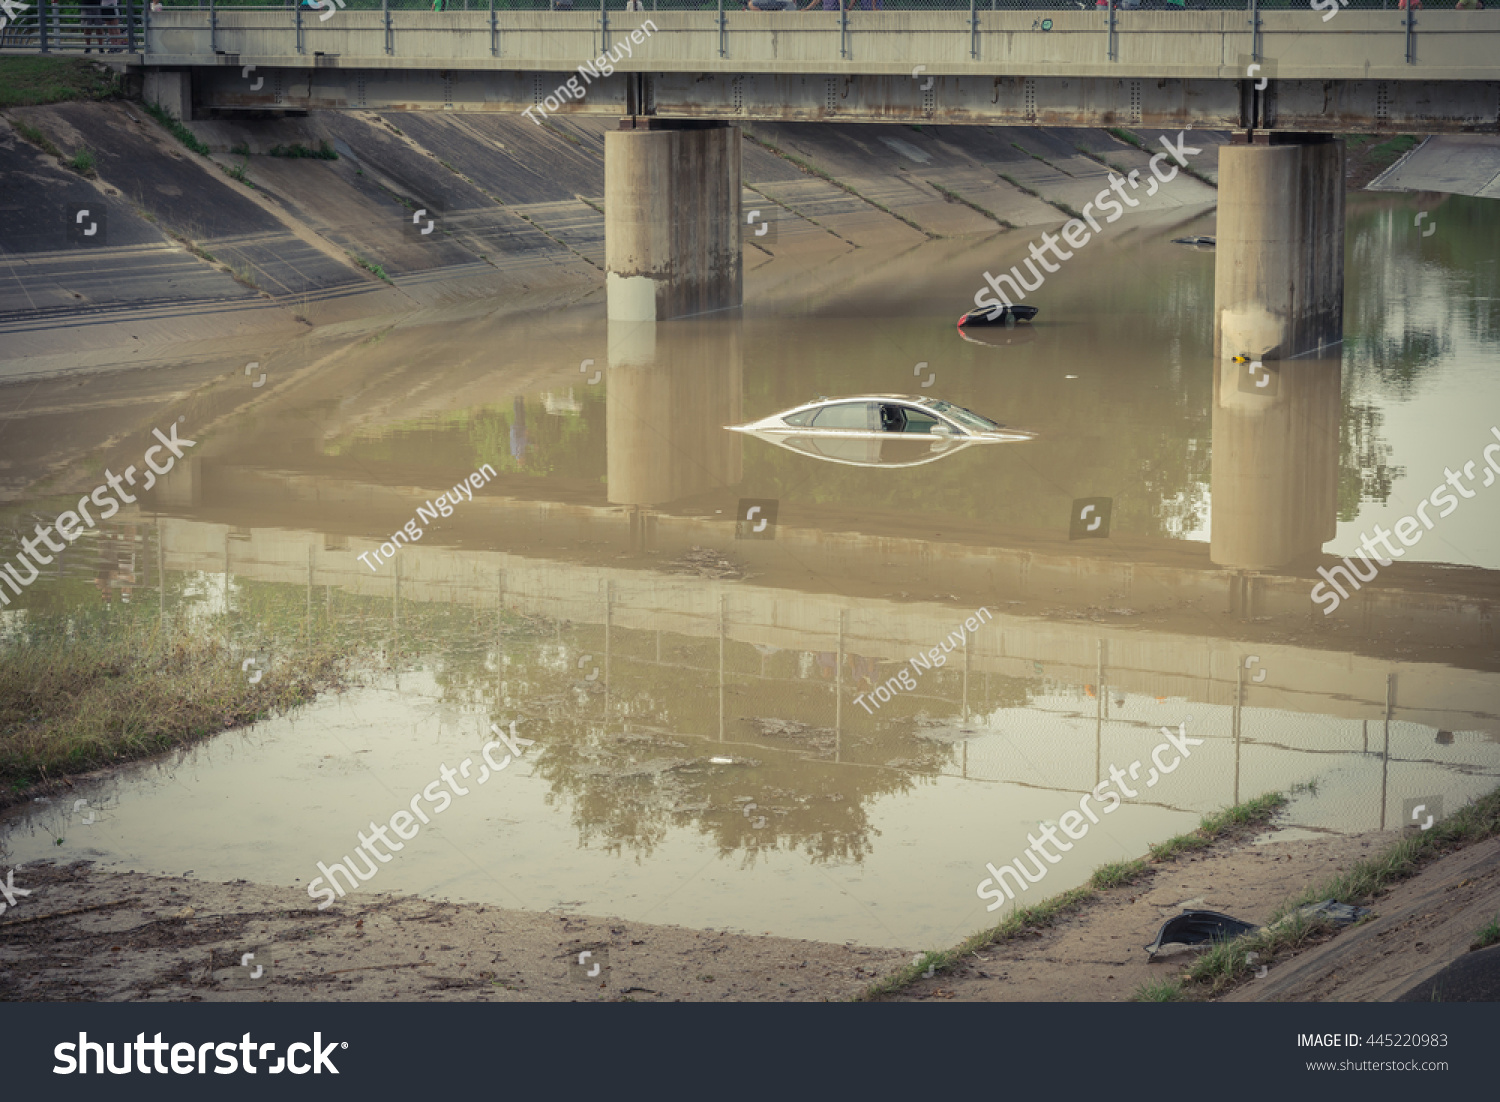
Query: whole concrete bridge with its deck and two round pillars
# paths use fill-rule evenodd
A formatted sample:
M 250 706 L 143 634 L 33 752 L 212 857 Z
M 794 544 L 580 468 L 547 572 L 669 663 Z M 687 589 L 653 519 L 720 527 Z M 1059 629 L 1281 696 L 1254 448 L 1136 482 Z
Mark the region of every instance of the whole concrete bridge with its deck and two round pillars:
M 1113 0 L 1094 12 L 982 12 L 970 0 L 968 12 L 806 13 L 723 0 L 614 13 L 322 3 L 132 6 L 124 40 L 147 96 L 184 120 L 195 109 L 622 115 L 606 141 L 604 195 L 618 321 L 741 304 L 741 118 L 1208 127 L 1239 142 L 1220 159 L 1215 351 L 1290 360 L 1342 339 L 1344 148 L 1328 135 L 1500 130 L 1492 10 L 1340 9 L 1324 21 Z M 1083 217 L 1100 231 L 1088 205 Z M 1088 240 L 1078 219 L 1065 234 Z

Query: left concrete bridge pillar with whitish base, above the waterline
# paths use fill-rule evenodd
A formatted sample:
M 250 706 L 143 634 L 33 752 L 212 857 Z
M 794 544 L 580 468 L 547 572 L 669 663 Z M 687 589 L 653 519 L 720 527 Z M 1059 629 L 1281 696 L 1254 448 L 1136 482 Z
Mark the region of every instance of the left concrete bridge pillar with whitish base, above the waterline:
M 604 135 L 612 321 L 663 321 L 744 301 L 740 127 L 670 126 Z

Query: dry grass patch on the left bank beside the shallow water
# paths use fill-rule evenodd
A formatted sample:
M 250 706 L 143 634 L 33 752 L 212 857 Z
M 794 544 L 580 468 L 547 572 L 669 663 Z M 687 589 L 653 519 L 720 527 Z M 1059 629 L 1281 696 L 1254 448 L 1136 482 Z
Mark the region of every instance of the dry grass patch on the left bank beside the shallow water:
M 0 652 L 0 804 L 68 774 L 196 742 L 338 684 L 346 646 L 302 646 L 258 684 L 218 639 L 34 618 Z

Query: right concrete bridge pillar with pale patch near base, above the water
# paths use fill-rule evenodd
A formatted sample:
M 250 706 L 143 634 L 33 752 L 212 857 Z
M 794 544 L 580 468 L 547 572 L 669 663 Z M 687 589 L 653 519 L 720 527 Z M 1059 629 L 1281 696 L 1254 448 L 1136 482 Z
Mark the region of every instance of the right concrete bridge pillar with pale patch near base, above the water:
M 1290 360 L 1344 339 L 1344 142 L 1269 138 L 1269 145 L 1220 147 L 1214 355 L 1221 360 Z

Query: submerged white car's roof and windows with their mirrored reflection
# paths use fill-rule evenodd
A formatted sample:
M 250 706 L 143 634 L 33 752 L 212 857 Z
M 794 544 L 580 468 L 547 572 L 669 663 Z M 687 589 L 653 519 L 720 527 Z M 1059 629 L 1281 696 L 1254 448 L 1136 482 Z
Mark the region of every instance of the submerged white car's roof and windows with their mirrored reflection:
M 822 397 L 759 421 L 724 427 L 850 466 L 920 466 L 975 444 L 1014 444 L 1036 436 L 942 399 L 906 394 Z

